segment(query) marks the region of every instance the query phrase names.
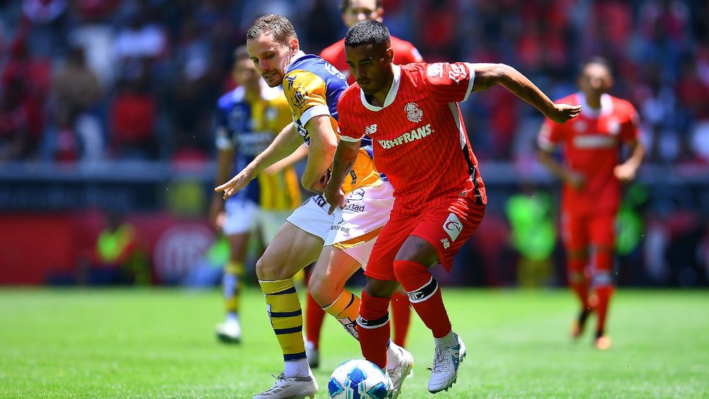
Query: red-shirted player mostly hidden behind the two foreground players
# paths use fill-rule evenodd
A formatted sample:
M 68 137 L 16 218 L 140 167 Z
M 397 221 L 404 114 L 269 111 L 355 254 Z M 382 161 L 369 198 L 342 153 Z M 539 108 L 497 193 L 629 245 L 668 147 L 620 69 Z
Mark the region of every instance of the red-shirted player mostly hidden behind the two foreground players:
M 342 22 L 347 28 L 365 19 L 381 22 L 384 16 L 384 9 L 381 8 L 381 0 L 342 0 L 340 4 L 342 11 Z M 423 62 L 420 53 L 411 43 L 391 36 L 391 48 L 394 50 L 394 63 L 398 65 L 409 64 L 411 62 Z M 345 60 L 345 39 L 333 43 L 320 52 L 323 60 L 330 62 L 342 74 L 347 77 L 347 84 L 354 83 L 354 77 L 350 74 L 350 67 L 347 67 Z M 313 299 L 308 291 L 308 304 L 306 305 L 306 352 L 308 363 L 311 368 L 316 368 L 320 364 L 320 330 L 323 327 L 325 310 Z M 406 293 L 397 290 L 391 296 L 391 318 L 393 319 L 392 340 L 400 347 L 406 346 L 406 334 L 411 322 L 411 308 L 409 308 Z

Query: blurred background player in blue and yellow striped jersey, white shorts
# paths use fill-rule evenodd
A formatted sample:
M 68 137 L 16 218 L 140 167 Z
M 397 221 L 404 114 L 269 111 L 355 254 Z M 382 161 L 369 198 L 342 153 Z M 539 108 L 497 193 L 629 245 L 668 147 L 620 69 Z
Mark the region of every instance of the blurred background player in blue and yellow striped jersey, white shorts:
M 217 181 L 224 181 L 230 173 L 244 169 L 291 121 L 283 91 L 263 82 L 249 60 L 246 47 L 238 47 L 234 55 L 233 73 L 239 86 L 221 96 L 217 103 Z M 303 146 L 259 174 L 227 201 L 216 194 L 213 198 L 211 219 L 223 230 L 230 247 L 223 274 L 226 318 L 216 327 L 216 335 L 223 342 L 239 342 L 241 338 L 238 311 L 247 242 L 252 232 L 257 231 L 263 245 L 268 245 L 288 215 L 298 207 L 301 193 L 291 164 L 306 154 L 307 148 Z

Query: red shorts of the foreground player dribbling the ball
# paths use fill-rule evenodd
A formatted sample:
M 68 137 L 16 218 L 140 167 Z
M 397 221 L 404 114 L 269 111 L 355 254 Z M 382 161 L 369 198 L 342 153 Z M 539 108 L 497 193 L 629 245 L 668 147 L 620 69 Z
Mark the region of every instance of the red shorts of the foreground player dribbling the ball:
M 394 258 L 410 235 L 433 245 L 439 262 L 450 271 L 454 255 L 473 235 L 484 214 L 485 206 L 476 205 L 472 196 L 451 198 L 416 215 L 391 210 L 389 222 L 374 243 L 364 275 L 379 280 L 396 280 Z

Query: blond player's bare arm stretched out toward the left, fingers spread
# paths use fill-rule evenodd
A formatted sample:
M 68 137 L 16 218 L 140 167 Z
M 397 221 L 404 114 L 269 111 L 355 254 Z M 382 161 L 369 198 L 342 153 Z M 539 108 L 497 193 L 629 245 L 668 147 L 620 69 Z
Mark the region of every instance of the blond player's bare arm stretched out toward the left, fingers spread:
M 293 123 L 286 125 L 264 152 L 250 162 L 241 172 L 214 191 L 224 191 L 224 199 L 233 196 L 255 179 L 264 169 L 292 154 L 303 143 Z

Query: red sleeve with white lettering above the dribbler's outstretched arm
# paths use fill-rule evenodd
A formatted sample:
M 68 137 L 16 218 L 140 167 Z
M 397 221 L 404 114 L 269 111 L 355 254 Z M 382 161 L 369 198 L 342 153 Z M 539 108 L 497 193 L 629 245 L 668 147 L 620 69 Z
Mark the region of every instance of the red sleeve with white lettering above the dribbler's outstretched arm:
M 425 89 L 439 101 L 465 101 L 473 89 L 475 69 L 467 62 L 436 62 L 424 67 Z

